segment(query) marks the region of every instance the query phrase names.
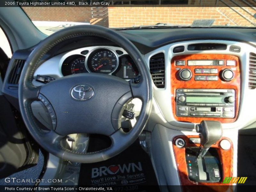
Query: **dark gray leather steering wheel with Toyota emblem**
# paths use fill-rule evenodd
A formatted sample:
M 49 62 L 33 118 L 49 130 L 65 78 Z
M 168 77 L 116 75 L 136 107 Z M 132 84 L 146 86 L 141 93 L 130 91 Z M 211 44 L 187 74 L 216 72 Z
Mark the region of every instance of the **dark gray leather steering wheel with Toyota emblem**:
M 140 82 L 133 84 L 116 76 L 83 73 L 58 78 L 42 86 L 32 84 L 36 68 L 54 46 L 78 36 L 101 37 L 122 47 L 140 71 Z M 52 130 L 44 131 L 33 116 L 31 103 L 49 101 L 47 108 L 55 118 Z M 125 133 L 120 128 L 122 111 L 132 98 L 142 101 L 137 123 Z M 23 120 L 33 138 L 48 152 L 79 163 L 107 160 L 129 147 L 145 127 L 152 107 L 152 82 L 139 50 L 124 36 L 108 28 L 80 25 L 60 30 L 40 42 L 29 55 L 20 76 L 19 105 Z M 64 148 L 61 141 L 73 133 L 103 134 L 110 137 L 109 148 L 80 153 Z

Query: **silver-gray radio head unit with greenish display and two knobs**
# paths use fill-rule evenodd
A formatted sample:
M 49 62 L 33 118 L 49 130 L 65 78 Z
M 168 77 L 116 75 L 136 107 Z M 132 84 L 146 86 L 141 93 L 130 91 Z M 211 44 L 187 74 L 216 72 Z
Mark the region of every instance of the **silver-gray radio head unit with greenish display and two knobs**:
M 234 89 L 177 89 L 176 116 L 234 118 Z

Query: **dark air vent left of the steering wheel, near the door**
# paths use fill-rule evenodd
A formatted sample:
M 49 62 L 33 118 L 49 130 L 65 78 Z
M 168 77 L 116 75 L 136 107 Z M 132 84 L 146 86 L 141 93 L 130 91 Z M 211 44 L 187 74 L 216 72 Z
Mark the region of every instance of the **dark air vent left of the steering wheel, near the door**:
M 9 78 L 10 84 L 19 84 L 20 74 L 22 68 L 24 67 L 25 61 L 26 60 L 14 60 Z

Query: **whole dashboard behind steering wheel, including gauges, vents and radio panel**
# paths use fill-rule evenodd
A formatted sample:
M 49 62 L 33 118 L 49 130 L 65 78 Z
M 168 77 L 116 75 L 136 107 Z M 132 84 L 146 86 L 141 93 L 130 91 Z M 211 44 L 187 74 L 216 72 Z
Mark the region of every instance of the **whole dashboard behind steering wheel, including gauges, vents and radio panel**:
M 154 100 L 148 130 L 156 123 L 171 129 L 191 130 L 201 120 L 220 121 L 224 129 L 256 121 L 255 29 L 118 32 L 144 55 L 152 75 Z M 14 53 L 8 69 L 10 76 L 17 60 L 26 60 L 30 52 L 31 49 Z M 34 78 L 37 75 L 60 78 L 77 73 L 103 73 L 127 80 L 139 75 L 129 54 L 118 45 L 97 39 L 90 43 L 76 39 L 49 53 Z M 18 84 L 9 79 L 5 78 L 3 92 L 18 98 Z

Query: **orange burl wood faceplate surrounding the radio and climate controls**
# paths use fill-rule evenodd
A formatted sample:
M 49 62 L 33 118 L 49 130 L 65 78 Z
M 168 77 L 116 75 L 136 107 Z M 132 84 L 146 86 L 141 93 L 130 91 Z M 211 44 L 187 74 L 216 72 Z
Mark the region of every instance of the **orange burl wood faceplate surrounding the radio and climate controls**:
M 176 66 L 176 60 L 185 60 L 185 66 Z M 223 66 L 188 66 L 188 60 L 225 60 Z M 226 66 L 226 60 L 235 60 L 236 66 Z M 192 72 L 192 78 L 189 81 L 180 81 L 178 73 L 180 69 L 188 68 Z M 218 74 L 195 74 L 195 68 L 217 68 Z M 220 79 L 220 71 L 223 69 L 232 69 L 235 76 L 229 82 L 224 82 Z M 177 121 L 200 123 L 202 120 L 220 121 L 221 123 L 232 123 L 236 121 L 238 116 L 239 102 L 240 102 L 240 60 L 234 55 L 223 54 L 193 54 L 193 55 L 178 55 L 171 60 L 171 100 L 172 112 Z M 195 81 L 195 75 L 218 75 L 218 81 Z M 235 118 L 213 118 L 213 117 L 178 117 L 176 116 L 176 89 L 234 89 L 236 91 L 236 111 Z

